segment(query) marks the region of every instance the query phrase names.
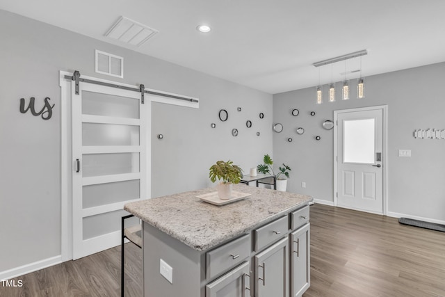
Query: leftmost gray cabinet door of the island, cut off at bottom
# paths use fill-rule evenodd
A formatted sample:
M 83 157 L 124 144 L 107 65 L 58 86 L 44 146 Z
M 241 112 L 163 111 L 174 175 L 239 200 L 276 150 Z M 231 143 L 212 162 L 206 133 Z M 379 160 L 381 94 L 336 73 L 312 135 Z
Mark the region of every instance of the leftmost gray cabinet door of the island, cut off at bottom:
M 249 272 L 249 262 L 244 262 L 240 266 L 207 284 L 206 297 L 248 297 L 251 286 Z

